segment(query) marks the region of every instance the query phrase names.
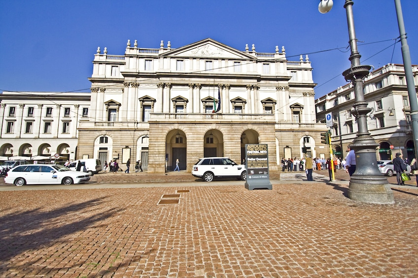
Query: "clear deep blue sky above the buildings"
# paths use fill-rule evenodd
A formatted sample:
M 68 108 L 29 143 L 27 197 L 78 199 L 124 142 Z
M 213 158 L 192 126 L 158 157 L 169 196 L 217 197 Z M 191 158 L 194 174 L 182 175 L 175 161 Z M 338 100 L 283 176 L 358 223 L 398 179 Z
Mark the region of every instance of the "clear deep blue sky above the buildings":
M 319 0 L 0 0 L 0 91 L 90 92 L 97 47 L 123 55 L 139 47 L 178 48 L 205 38 L 289 61 L 309 55 L 315 98 L 346 84 L 348 27 L 344 0 L 327 14 Z M 413 64 L 418 64 L 417 0 L 401 0 Z M 362 64 L 403 63 L 394 0 L 354 0 Z M 334 49 L 334 50 L 330 50 Z M 330 51 L 325 51 L 330 50 Z

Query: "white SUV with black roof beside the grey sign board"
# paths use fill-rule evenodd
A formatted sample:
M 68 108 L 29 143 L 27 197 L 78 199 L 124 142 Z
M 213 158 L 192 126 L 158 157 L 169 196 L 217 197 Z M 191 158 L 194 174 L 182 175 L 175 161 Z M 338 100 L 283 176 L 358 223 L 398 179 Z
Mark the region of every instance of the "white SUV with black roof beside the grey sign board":
M 207 182 L 214 178 L 227 177 L 247 178 L 245 165 L 237 164 L 228 157 L 204 157 L 193 166 L 192 175 Z

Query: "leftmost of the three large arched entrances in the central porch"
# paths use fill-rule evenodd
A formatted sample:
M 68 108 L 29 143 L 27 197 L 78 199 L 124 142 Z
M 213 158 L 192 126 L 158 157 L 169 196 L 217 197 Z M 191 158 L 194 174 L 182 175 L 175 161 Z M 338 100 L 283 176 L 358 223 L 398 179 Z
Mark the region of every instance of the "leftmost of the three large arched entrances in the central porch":
M 181 129 L 172 129 L 166 136 L 166 171 L 173 171 L 175 160 L 180 163 L 180 170 L 187 167 L 187 141 L 186 134 Z

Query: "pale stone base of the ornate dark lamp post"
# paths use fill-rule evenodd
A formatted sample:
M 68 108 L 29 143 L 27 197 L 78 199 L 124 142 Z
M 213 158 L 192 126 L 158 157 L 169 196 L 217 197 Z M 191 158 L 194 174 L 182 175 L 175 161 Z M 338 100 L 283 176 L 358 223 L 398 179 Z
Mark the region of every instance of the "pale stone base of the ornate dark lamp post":
M 355 183 L 352 180 L 348 186 L 348 198 L 372 204 L 391 205 L 395 203 L 389 184 L 364 184 Z

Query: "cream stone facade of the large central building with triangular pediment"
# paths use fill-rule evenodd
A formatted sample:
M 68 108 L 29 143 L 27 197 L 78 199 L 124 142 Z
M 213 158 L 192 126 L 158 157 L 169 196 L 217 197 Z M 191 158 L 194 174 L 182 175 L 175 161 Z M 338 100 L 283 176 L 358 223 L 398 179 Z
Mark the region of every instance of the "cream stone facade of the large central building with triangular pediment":
M 317 155 L 326 129 L 316 123 L 309 58 L 288 61 L 284 47 L 239 51 L 208 38 L 152 49 L 128 40 L 123 56 L 98 48 L 89 80 L 91 118 L 79 125 L 78 155 L 141 159 L 148 172 L 171 170 L 177 158 L 187 171 L 204 156 L 241 162 L 248 143 L 268 144 L 277 170 L 284 154 L 303 155 L 303 137 Z

